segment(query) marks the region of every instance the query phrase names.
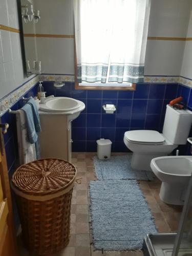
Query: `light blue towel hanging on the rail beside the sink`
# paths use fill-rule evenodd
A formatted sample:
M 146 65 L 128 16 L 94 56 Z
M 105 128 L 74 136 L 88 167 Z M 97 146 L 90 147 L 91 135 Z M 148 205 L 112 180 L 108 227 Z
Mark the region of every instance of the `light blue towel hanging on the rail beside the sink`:
M 35 125 L 34 125 L 34 119 L 33 119 L 33 111 L 31 104 L 25 104 L 22 108 L 22 110 L 25 112 L 25 118 L 26 118 L 26 124 L 27 124 L 27 133 L 28 133 L 28 139 L 31 144 L 35 143 L 37 141 L 37 133 L 35 131 Z

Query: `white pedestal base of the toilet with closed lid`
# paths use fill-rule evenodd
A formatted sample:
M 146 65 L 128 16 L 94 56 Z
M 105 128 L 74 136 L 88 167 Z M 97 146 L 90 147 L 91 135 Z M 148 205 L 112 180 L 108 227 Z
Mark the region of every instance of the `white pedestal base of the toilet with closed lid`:
M 160 156 L 166 156 L 164 153 L 158 154 L 158 155 L 145 155 L 145 154 L 138 154 L 134 153 L 132 155 L 131 160 L 131 166 L 134 170 L 148 170 L 152 172 L 152 169 L 150 167 L 150 163 L 153 158 L 160 157 Z

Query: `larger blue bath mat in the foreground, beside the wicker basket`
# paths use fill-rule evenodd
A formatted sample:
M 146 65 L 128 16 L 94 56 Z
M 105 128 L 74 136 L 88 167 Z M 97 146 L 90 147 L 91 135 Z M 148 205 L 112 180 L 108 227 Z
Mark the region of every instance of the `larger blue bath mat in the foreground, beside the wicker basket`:
M 90 197 L 96 249 L 141 249 L 146 234 L 157 232 L 137 181 L 91 181 Z

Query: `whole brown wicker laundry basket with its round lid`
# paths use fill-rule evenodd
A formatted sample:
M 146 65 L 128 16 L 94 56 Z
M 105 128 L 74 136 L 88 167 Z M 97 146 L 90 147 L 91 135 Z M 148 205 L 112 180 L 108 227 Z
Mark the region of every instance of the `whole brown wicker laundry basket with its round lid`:
M 35 255 L 55 253 L 68 244 L 75 177 L 75 166 L 60 159 L 36 160 L 13 174 L 23 241 Z

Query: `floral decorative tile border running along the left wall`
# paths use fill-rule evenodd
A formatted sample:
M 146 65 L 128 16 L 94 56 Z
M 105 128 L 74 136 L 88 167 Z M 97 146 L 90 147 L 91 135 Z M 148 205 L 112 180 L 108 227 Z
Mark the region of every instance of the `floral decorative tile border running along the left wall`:
M 5 96 L 0 100 L 0 116 L 2 116 L 6 111 L 8 111 L 12 105 L 16 103 L 21 97 L 24 96 L 37 82 L 39 81 L 39 76 L 35 75 L 30 80 L 26 81 L 22 86 L 12 91 L 10 94 Z

